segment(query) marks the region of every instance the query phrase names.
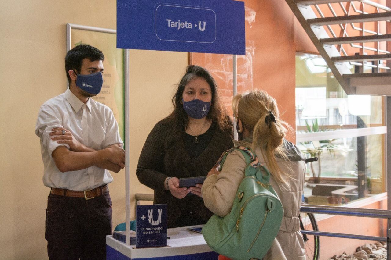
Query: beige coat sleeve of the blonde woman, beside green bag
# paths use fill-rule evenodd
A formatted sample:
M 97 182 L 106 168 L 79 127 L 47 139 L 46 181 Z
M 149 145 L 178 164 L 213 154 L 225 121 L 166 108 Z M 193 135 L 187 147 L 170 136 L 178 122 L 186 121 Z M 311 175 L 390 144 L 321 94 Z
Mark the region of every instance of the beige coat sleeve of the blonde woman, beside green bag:
M 240 151 L 233 151 L 227 156 L 221 172 L 206 178 L 201 192 L 204 204 L 210 211 L 221 217 L 230 213 L 245 168 L 243 155 Z

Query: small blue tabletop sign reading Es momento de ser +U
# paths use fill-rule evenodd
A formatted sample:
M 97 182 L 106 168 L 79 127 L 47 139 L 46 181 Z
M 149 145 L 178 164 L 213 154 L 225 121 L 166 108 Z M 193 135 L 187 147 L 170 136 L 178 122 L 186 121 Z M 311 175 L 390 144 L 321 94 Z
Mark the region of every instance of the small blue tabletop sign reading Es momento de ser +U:
M 136 248 L 167 246 L 167 204 L 136 206 Z

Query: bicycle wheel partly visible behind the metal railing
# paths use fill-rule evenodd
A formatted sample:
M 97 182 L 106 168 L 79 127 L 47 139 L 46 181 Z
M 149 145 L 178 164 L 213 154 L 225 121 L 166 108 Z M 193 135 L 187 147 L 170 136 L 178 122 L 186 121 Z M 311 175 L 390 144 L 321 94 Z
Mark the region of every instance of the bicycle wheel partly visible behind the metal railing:
M 300 228 L 303 230 L 317 231 L 317 223 L 313 214 L 300 212 Z M 319 260 L 320 245 L 319 236 L 303 234 L 305 255 L 307 260 Z

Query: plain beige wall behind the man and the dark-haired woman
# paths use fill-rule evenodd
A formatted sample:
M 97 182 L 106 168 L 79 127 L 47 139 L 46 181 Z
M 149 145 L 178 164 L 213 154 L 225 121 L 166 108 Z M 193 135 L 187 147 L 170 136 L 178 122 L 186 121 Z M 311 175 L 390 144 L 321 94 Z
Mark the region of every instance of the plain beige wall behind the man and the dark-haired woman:
M 0 8 L 0 259 L 47 259 L 40 105 L 66 89 L 66 23 L 116 28 L 115 1 L 2 1 Z M 170 109 L 187 53 L 130 53 L 131 193 L 152 192 L 135 169 L 145 138 Z M 113 225 L 125 220 L 125 171 L 113 174 Z M 131 207 L 134 215 L 133 204 Z

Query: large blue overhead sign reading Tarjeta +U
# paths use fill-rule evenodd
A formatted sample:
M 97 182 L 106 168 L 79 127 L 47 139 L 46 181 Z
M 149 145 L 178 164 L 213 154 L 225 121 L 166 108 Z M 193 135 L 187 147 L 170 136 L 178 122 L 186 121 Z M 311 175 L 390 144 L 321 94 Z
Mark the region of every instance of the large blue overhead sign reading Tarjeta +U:
M 244 55 L 244 2 L 117 0 L 117 48 Z

